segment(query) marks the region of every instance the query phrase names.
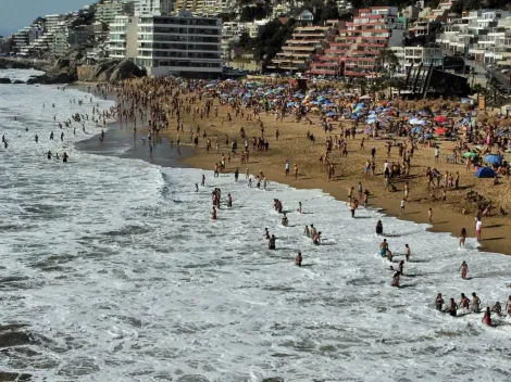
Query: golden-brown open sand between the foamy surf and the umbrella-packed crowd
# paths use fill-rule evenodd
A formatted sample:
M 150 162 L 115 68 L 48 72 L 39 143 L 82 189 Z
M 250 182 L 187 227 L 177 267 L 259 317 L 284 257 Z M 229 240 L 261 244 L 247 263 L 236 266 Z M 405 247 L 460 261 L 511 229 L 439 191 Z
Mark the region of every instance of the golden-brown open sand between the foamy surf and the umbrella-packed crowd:
M 219 104 L 215 100 L 215 105 Z M 194 107 L 197 105 L 194 105 Z M 200 126 L 201 132 L 199 138 L 199 148 L 196 154 L 191 157 L 183 160 L 186 165 L 197 168 L 213 170 L 215 163 L 220 163 L 222 154 L 227 156 L 230 151 L 225 144 L 225 135 L 229 139 L 237 139 L 238 151 L 242 149 L 242 140 L 239 137 L 240 127 L 245 128 L 248 137 L 259 137 L 260 126 L 258 122 L 247 122 L 246 116 L 235 117 L 235 113 L 230 111 L 233 122 L 227 123 L 228 106 L 219 106 L 219 116 L 210 116 L 210 118 L 196 117 L 191 119 L 191 115 L 184 115 L 184 131 L 179 135 L 182 144 L 189 145 L 189 131 L 190 127 L 195 129 Z M 247 111 L 246 111 L 247 112 Z M 213 113 L 211 113 L 213 115 Z M 275 122 L 273 115 L 262 113 L 260 115 L 264 124 L 264 136 L 270 140 L 270 150 L 267 152 L 253 152 L 250 141 L 250 163 L 248 165 L 240 164 L 239 156 L 234 157 L 229 163 L 226 163 L 224 173 L 232 173 L 236 167 L 242 176 L 245 169 L 248 167 L 250 174 L 258 174 L 263 170 L 269 180 L 288 183 L 295 188 L 301 189 L 322 189 L 332 194 L 340 201 L 347 201 L 348 189 L 354 187 L 357 190 L 358 182 L 361 181 L 364 189 L 367 188 L 371 192 L 370 205 L 373 207 L 382 208 L 382 212 L 398 216 L 406 220 L 415 222 L 428 221 L 428 208 L 433 208 L 433 225 L 431 231 L 451 232 L 456 238 L 459 235 L 462 227 L 466 228 L 470 237 L 475 235 L 475 206 L 466 202 L 466 192 L 470 190 L 477 191 L 493 201 L 496 211 L 498 207 L 503 206 L 508 212 L 511 206 L 510 200 L 510 181 L 502 179 L 499 186 L 491 186 L 491 179 L 477 179 L 474 177 L 473 169 L 466 173 L 464 164 L 446 163 L 444 156 L 450 153 L 450 148 L 453 148 L 452 142 L 439 141 L 440 144 L 440 163 L 435 164 L 434 149 L 422 147 L 416 150 L 412 157 L 410 196 L 407 202 L 406 214 L 400 215 L 400 201 L 403 198 L 403 181 L 395 183 L 397 187 L 396 192 L 387 192 L 384 187 L 383 165 L 385 160 L 389 163 L 392 161 L 400 162 L 397 148 L 392 148 L 390 157 L 387 156 L 385 140 L 370 138 L 365 140 L 365 149 L 360 150 L 360 142 L 362 135 L 357 135 L 356 140 L 348 141 L 348 156 L 341 157 L 341 152 L 334 149 L 331 161 L 335 164 L 336 174 L 332 181 L 327 181 L 326 171 L 320 165 L 319 158 L 325 152 L 324 141 L 328 135 L 340 136 L 340 127 L 338 123 L 334 123 L 335 129 L 332 133 L 325 135 L 320 126 L 319 118 L 312 118 L 313 125 L 309 123 L 296 123 L 292 116 L 284 119 L 283 123 Z M 224 122 L 222 122 L 224 119 Z M 175 122 L 171 126 L 176 126 Z M 202 131 L 205 128 L 208 137 L 212 140 L 213 150 L 208 154 L 205 152 L 205 140 L 202 139 Z M 277 141 L 275 131 L 278 128 L 281 131 L 281 139 Z M 307 140 L 307 131 L 310 130 L 316 137 L 316 143 L 311 144 Z M 167 136 L 169 139 L 175 141 L 176 131 L 170 128 L 169 130 L 160 131 L 160 135 Z M 219 137 L 220 151 L 215 153 L 214 137 Z M 403 138 L 398 138 L 398 141 L 403 141 Z M 371 148 L 376 147 L 376 176 L 374 178 L 364 178 L 363 168 L 365 161 L 371 158 Z M 290 162 L 291 176 L 285 177 L 284 165 L 286 158 Z M 294 164 L 298 165 L 298 179 L 295 180 L 292 176 Z M 432 193 L 437 198 L 441 195 L 441 190 L 427 190 L 426 188 L 426 168 L 436 167 L 444 174 L 446 170 L 449 173 L 459 171 L 460 189 L 448 191 L 446 202 L 433 202 Z M 354 192 L 354 194 L 357 191 Z M 304 206 L 307 208 L 307 206 Z M 462 208 L 466 208 L 466 214 L 462 215 Z M 349 212 L 346 211 L 348 214 Z M 508 216 L 493 216 L 483 218 L 483 241 L 482 251 L 498 252 L 503 254 L 511 254 L 511 237 L 507 235 L 508 225 L 510 218 Z M 453 239 L 452 245 L 457 245 Z

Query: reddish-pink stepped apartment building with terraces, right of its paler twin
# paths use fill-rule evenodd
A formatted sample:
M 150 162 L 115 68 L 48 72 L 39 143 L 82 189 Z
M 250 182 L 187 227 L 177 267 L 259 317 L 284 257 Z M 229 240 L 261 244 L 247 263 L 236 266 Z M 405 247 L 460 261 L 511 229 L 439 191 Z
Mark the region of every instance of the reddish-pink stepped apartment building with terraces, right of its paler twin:
M 335 39 L 310 65 L 312 75 L 348 77 L 379 76 L 382 52 L 402 47 L 403 24 L 395 7 L 374 7 L 358 11 L 352 22 L 342 23 Z

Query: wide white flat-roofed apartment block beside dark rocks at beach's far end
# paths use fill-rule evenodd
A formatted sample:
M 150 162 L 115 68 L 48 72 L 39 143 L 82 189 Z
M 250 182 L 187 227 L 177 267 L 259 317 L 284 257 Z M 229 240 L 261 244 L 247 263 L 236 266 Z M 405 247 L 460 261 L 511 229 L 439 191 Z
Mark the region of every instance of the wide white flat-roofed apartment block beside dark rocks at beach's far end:
M 176 16 L 115 17 L 109 49 L 113 59 L 133 60 L 153 76 L 216 77 L 222 73 L 222 20 Z

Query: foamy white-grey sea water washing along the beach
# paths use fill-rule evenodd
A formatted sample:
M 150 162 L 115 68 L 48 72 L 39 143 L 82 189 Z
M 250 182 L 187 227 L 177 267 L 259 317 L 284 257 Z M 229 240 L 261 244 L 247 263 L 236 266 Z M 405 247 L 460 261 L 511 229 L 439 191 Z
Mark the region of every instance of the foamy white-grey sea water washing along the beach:
M 504 303 L 510 257 L 479 253 L 474 240 L 459 250 L 449 234 L 371 208 L 353 219 L 321 190 L 271 182 L 263 191 L 245 175 L 235 182 L 78 151 L 75 141 L 101 130 L 89 97 L 0 86 L 9 143 L 0 149 L 1 323 L 26 323 L 20 331 L 30 335 L 0 353 L 1 370 L 48 381 L 511 379 L 509 318 L 494 316 L 499 326 L 488 328 L 482 314 L 452 318 L 434 307 L 439 292 L 446 302 L 476 292 L 483 307 Z M 76 112 L 89 114 L 85 133 L 78 124 L 76 136 L 57 127 Z M 47 160 L 48 150 L 70 162 Z M 195 192 L 202 174 L 205 187 Z M 216 221 L 214 188 L 223 196 Z M 395 255 L 407 243 L 412 251 L 399 289 L 377 254 L 378 219 Z M 322 245 L 302 234 L 311 224 Z M 469 280 L 460 279 L 462 260 Z

